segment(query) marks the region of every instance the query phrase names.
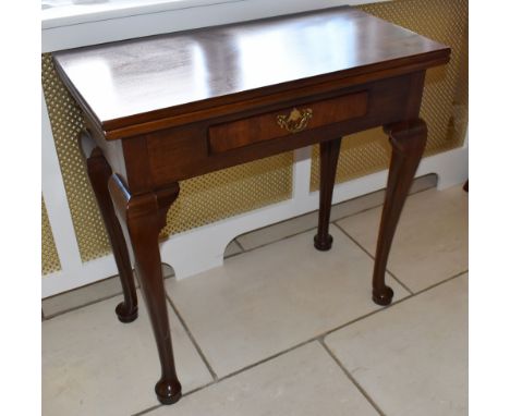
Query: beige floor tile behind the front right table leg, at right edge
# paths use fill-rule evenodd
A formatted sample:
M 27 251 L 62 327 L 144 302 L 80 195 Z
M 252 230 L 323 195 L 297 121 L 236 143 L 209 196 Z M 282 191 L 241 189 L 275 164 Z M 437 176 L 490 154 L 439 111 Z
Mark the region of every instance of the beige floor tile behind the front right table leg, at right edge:
M 374 255 L 380 212 L 378 207 L 338 224 Z M 462 187 L 408 198 L 388 270 L 413 292 L 467 270 L 467 194 Z

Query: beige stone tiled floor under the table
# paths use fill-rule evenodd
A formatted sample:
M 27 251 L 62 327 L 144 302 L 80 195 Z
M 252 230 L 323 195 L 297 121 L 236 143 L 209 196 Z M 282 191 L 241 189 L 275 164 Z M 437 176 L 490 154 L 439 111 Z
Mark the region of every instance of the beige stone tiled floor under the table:
M 113 281 L 45 301 L 44 415 L 466 415 L 467 196 L 409 197 L 387 308 L 371 301 L 380 197 L 335 208 L 330 252 L 313 248 L 313 213 L 239 237 L 222 268 L 166 280 L 173 406 L 154 395 L 143 304 L 117 321 Z

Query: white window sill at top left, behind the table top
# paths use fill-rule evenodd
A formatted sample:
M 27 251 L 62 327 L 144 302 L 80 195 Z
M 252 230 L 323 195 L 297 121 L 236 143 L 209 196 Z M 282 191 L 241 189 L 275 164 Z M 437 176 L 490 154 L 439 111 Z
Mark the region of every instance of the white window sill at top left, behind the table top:
M 42 1 L 54 4 L 42 10 L 41 51 L 45 53 L 308 10 L 388 0 Z

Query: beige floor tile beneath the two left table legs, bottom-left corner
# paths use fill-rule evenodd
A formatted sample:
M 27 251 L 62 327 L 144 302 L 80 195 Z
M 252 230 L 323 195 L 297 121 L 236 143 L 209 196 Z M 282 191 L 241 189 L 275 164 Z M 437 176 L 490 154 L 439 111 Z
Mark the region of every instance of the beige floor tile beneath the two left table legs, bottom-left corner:
M 121 323 L 114 315 L 120 301 L 42 322 L 44 415 L 129 415 L 158 404 L 160 367 L 147 311 L 142 302 L 138 319 Z M 183 391 L 211 381 L 173 311 L 170 321 Z

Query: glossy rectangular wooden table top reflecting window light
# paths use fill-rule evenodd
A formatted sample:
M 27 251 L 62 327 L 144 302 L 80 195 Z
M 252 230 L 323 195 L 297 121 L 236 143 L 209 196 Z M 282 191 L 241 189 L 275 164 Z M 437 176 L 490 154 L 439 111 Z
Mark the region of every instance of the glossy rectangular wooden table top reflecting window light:
M 336 8 L 80 48 L 54 53 L 54 61 L 108 139 L 133 124 L 262 96 L 270 86 L 420 69 L 448 56 L 444 45 Z

